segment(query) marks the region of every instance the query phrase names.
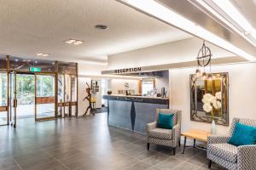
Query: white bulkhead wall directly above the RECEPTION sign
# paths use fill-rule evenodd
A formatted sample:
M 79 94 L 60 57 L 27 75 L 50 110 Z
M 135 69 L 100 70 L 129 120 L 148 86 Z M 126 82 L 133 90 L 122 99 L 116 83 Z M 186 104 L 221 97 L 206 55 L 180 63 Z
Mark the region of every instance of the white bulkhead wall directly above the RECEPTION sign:
M 235 56 L 224 49 L 218 48 L 208 42 L 213 58 Z M 162 65 L 195 60 L 202 40 L 196 37 L 168 42 L 149 48 L 141 48 L 121 54 L 108 56 L 108 70 L 129 68 L 146 65 Z

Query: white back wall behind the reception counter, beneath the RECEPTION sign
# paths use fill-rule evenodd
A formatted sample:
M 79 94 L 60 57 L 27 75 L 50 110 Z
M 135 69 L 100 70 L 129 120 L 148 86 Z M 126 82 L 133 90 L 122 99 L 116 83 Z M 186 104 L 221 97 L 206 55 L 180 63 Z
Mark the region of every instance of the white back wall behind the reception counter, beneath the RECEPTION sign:
M 135 90 L 135 94 L 138 94 L 138 80 L 111 79 L 108 88 L 112 94 L 118 94 L 118 90 L 125 90 L 125 82 L 129 83 L 129 90 Z

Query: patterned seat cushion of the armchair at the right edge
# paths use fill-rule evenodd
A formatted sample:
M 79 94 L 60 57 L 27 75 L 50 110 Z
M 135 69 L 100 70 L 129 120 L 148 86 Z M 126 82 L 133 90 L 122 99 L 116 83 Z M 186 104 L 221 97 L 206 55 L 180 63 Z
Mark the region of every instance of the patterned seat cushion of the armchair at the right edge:
M 236 162 L 238 148 L 232 144 L 208 144 L 208 151 L 226 161 Z

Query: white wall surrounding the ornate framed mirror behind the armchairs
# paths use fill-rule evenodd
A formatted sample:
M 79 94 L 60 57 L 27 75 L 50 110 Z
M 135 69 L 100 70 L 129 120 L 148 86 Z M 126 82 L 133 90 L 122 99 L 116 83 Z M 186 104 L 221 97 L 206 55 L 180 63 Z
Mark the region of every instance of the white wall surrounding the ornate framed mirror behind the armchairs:
M 256 119 L 256 64 L 212 66 L 212 72 L 229 72 L 230 122 L 233 117 Z M 209 130 L 211 124 L 190 121 L 189 75 L 195 68 L 170 70 L 171 108 L 182 110 L 182 131 L 190 128 Z M 230 127 L 217 125 L 217 133 L 227 133 Z

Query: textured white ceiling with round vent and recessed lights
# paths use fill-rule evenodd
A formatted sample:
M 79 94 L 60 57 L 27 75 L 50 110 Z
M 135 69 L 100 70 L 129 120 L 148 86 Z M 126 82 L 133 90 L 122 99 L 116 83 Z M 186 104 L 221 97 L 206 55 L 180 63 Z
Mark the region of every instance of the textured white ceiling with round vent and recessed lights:
M 106 31 L 94 26 L 105 24 Z M 0 54 L 106 63 L 108 54 L 191 37 L 114 0 L 0 0 Z M 63 41 L 74 38 L 84 44 Z

